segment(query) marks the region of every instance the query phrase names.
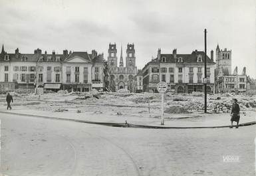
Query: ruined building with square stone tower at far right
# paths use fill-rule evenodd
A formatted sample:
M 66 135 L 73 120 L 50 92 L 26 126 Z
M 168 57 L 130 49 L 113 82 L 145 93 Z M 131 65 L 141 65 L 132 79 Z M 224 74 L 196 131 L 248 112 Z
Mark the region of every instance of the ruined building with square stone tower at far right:
M 215 92 L 227 93 L 235 92 L 236 94 L 246 94 L 247 75 L 246 68 L 238 74 L 237 66 L 233 73 L 231 72 L 231 50 L 216 48 L 216 69 L 215 69 Z

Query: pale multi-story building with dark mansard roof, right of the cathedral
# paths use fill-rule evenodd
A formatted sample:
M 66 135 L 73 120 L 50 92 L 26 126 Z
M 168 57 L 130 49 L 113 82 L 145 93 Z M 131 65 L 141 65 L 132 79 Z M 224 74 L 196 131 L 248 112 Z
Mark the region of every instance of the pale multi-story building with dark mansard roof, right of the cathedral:
M 207 92 L 214 92 L 213 51 L 211 58 L 207 56 Z M 143 72 L 143 89 L 146 92 L 156 92 L 158 82 L 166 82 L 170 91 L 175 93 L 203 92 L 204 84 L 203 51 L 194 50 L 192 54 L 178 54 L 174 49 L 172 54 L 162 54 L 158 49 L 158 57 L 148 62 Z

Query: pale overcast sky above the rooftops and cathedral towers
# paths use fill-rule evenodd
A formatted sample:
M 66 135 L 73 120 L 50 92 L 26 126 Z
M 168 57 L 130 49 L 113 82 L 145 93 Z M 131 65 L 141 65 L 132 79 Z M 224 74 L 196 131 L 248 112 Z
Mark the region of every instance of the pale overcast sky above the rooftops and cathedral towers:
M 207 54 L 217 43 L 232 50 L 232 70 L 243 66 L 256 78 L 255 0 L 0 0 L 0 43 L 7 52 L 63 53 L 64 49 L 96 49 L 108 57 L 116 43 L 118 59 L 123 46 L 134 43 L 138 68 L 162 53 Z M 125 57 L 124 57 L 125 58 Z M 119 62 L 119 60 L 118 60 Z

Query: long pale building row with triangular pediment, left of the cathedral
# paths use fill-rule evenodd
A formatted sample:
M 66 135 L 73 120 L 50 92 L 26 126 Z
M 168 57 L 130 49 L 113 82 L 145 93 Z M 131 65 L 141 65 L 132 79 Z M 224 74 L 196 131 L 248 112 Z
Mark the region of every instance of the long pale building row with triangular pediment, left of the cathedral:
M 15 88 L 45 88 L 46 90 L 89 91 L 104 87 L 104 58 L 92 50 L 63 54 L 42 54 L 37 48 L 34 54 L 7 53 L 2 47 L 0 55 L 1 90 Z

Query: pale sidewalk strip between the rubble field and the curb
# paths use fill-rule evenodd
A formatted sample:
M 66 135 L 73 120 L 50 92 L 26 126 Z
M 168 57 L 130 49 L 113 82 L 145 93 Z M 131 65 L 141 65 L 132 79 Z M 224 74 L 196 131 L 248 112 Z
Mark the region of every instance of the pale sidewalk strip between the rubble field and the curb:
M 49 118 L 61 118 L 66 120 L 83 120 L 86 122 L 100 122 L 100 123 L 125 123 L 134 124 L 138 126 L 161 126 L 160 114 L 144 113 L 129 115 L 116 115 L 114 113 L 102 113 L 100 109 L 76 113 L 76 109 L 64 112 L 50 112 L 43 110 L 33 110 L 27 108 L 19 108 L 13 110 L 5 110 L 0 108 L 0 113 L 13 113 L 18 115 L 29 116 L 43 116 Z M 0 116 L 3 116 L 1 113 Z M 255 122 L 256 112 L 246 111 L 245 114 L 241 112 L 239 124 Z M 212 126 L 230 126 L 230 114 L 204 114 L 202 112 L 193 114 L 164 114 L 164 127 L 212 127 Z M 235 123 L 233 124 L 235 125 Z

